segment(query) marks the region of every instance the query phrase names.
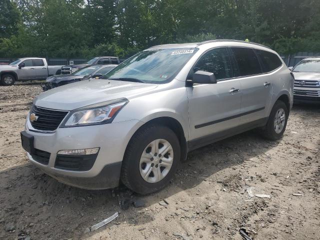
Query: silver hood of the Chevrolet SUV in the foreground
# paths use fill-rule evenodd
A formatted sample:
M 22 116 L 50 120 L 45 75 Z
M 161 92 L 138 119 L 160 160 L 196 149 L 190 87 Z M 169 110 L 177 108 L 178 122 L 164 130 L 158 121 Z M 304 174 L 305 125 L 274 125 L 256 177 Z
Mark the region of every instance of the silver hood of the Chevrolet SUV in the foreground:
M 130 99 L 155 87 L 157 84 L 91 78 L 45 91 L 36 97 L 34 104 L 45 108 L 73 110 L 121 97 Z

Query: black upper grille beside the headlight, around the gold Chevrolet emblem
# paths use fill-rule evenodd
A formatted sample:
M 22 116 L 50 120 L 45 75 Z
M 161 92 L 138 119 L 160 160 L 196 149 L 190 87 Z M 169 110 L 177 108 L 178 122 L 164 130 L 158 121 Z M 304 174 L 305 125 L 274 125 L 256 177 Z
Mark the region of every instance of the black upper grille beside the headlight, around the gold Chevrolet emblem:
M 51 110 L 32 105 L 30 114 L 34 113 L 37 117 L 36 120 L 31 121 L 31 125 L 34 129 L 43 131 L 54 131 L 65 115 L 67 111 Z

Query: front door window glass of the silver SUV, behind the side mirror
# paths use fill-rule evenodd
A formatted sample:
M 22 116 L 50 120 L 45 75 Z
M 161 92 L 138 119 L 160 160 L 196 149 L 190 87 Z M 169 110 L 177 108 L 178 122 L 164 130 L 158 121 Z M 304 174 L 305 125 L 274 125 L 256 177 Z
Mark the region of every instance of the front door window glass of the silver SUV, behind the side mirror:
M 205 53 L 193 67 L 193 72 L 198 70 L 213 72 L 217 80 L 232 77 L 231 63 L 226 48 L 217 48 Z

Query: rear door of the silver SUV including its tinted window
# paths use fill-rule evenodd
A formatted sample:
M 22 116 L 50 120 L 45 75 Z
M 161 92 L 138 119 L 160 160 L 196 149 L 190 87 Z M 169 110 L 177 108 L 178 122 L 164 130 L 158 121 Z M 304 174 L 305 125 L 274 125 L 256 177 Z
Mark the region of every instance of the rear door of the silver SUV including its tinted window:
M 269 75 L 262 67 L 253 48 L 230 47 L 234 57 L 236 76 L 241 82 L 241 122 L 259 121 L 267 115 L 272 96 Z

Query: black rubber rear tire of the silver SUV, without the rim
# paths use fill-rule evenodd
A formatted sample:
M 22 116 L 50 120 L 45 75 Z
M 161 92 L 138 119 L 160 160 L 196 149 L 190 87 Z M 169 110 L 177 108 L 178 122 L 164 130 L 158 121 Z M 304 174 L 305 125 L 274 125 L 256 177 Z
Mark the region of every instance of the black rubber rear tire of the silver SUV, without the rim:
M 277 113 L 277 111 L 281 108 L 285 112 L 285 122 L 284 122 L 284 126 L 283 126 L 283 129 L 281 130 L 281 132 L 277 133 L 275 131 L 275 127 L 274 127 L 274 117 L 275 117 L 275 114 Z M 277 100 L 272 107 L 272 110 L 270 112 L 270 115 L 269 115 L 269 118 L 268 118 L 266 125 L 262 128 L 261 133 L 262 133 L 263 137 L 265 137 L 268 140 L 272 140 L 272 141 L 280 139 L 283 136 L 283 132 L 285 131 L 288 116 L 289 116 L 289 111 L 288 111 L 288 108 L 285 105 L 285 103 L 281 100 Z

